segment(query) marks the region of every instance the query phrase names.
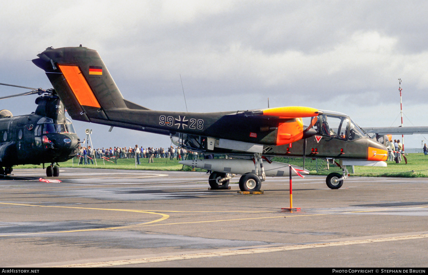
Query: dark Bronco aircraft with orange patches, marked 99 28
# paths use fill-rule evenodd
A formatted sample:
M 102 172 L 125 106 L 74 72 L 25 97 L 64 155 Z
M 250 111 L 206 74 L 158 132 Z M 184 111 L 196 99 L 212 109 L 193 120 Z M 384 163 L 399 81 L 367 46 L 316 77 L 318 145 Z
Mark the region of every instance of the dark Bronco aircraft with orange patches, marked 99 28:
M 155 111 L 122 97 L 96 50 L 47 48 L 33 59 L 45 70 L 72 119 L 169 135 L 182 148 L 233 158 L 187 160 L 182 164 L 212 170 L 212 189 L 225 189 L 241 175 L 243 191 L 257 191 L 266 176 L 308 172 L 271 162 L 270 158 L 339 159 L 342 174 L 327 176 L 327 186 L 340 188 L 349 175 L 345 165 L 386 166 L 386 147 L 370 139 L 349 116 L 309 107 L 288 106 L 234 112 Z M 310 118 L 309 126 L 302 118 Z M 265 160 L 265 162 L 263 161 Z

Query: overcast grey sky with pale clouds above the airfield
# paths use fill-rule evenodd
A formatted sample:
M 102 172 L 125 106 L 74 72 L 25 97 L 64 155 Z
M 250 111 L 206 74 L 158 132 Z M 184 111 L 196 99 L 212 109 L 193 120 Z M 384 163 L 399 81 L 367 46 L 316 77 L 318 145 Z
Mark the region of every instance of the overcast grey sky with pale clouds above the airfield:
M 266 108 L 269 97 L 270 107 L 399 126 L 401 78 L 404 126 L 428 126 L 427 14 L 426 1 L 3 1 L 0 83 L 51 88 L 28 60 L 82 44 L 98 50 L 124 98 L 150 109 L 186 110 L 181 74 L 189 112 Z M 24 115 L 35 99 L 6 99 L 2 109 Z M 167 136 L 74 125 L 82 139 L 93 129 L 95 148 L 170 145 Z

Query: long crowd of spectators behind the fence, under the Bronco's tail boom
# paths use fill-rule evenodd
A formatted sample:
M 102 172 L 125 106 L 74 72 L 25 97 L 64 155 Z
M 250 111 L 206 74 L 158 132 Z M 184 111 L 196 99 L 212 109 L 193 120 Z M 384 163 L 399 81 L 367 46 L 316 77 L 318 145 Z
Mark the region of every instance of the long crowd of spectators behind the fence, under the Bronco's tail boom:
M 97 148 L 92 149 L 91 146 L 86 147 L 80 147 L 79 154 L 77 154 L 77 159 L 80 159 L 80 164 L 89 164 L 90 162 L 93 164 L 93 159 L 102 159 L 105 158 L 107 160 L 109 159 L 129 159 L 129 158 L 135 158 L 137 159 L 137 164 L 140 164 L 140 159 L 148 159 L 149 163 L 153 163 L 154 158 L 169 158 L 170 160 L 177 159 L 182 160 L 184 159 L 184 156 L 187 154 L 187 150 L 183 148 L 178 147 L 169 147 L 168 149 L 165 148 L 143 148 L 141 146 L 140 148 L 138 145 L 135 145 L 135 147 L 131 148 L 128 147 L 116 147 L 113 148 Z

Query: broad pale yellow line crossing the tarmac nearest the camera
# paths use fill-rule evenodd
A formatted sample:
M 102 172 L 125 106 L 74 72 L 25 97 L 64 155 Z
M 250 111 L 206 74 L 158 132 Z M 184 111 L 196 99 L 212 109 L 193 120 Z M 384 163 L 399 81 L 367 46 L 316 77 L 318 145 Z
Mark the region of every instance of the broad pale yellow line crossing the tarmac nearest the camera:
M 206 252 L 206 253 L 196 253 L 196 254 L 180 254 L 180 255 L 173 255 L 173 256 L 147 257 L 147 258 L 129 259 L 129 260 L 113 260 L 113 261 L 96 262 L 96 263 L 78 263 L 78 264 L 68 264 L 68 265 L 51 266 L 51 267 L 122 266 L 127 264 L 156 263 L 156 262 L 166 262 L 166 261 L 173 261 L 173 260 L 189 260 L 189 259 L 209 258 L 209 257 L 258 254 L 258 253 L 267 253 L 267 252 L 276 252 L 276 251 L 289 251 L 289 250 L 299 250 L 299 249 L 308 249 L 308 248 L 324 248 L 324 247 L 339 246 L 339 245 L 357 245 L 357 244 L 364 244 L 364 243 L 391 242 L 391 241 L 412 240 L 412 239 L 422 239 L 422 238 L 428 238 L 428 234 L 407 235 L 407 236 L 399 236 L 399 237 L 384 237 L 384 238 L 366 239 L 366 240 L 351 240 L 351 241 L 342 241 L 342 242 L 324 242 L 324 243 L 306 244 L 306 245 L 250 248 L 250 249 L 242 249 L 242 250 L 234 250 L 234 251 L 228 250 L 228 251 Z

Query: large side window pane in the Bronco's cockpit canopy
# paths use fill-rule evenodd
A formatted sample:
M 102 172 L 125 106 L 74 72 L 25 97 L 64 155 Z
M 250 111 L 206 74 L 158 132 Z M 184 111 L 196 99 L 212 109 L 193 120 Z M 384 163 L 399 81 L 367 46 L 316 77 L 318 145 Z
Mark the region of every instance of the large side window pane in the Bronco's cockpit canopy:
M 318 133 L 339 139 L 347 139 L 349 119 L 344 116 L 321 115 L 318 117 Z

